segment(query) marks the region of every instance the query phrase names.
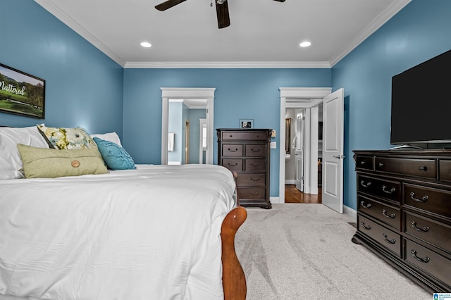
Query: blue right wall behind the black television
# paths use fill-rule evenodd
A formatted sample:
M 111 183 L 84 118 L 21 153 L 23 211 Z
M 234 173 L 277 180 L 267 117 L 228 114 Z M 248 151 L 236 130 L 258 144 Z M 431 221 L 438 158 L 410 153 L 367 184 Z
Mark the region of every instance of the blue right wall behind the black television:
M 346 206 L 357 207 L 352 150 L 390 148 L 392 76 L 449 49 L 451 1 L 414 0 L 332 68 L 333 89 L 345 88 Z

